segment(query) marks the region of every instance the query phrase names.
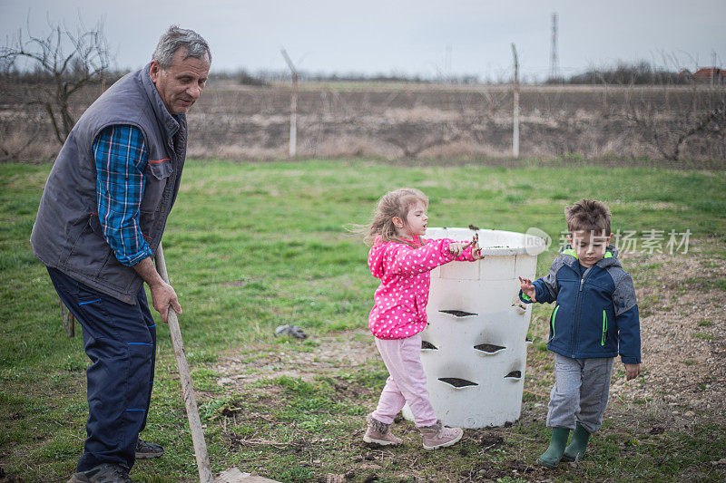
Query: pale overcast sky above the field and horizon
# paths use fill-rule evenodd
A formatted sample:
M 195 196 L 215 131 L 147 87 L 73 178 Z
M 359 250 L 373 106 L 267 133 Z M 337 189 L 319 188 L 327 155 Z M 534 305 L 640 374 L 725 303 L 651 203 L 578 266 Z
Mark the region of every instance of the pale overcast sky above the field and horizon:
M 71 28 L 79 15 L 86 26 L 103 21 L 116 67 L 136 69 L 179 24 L 209 41 L 212 70 L 282 70 L 284 46 L 309 72 L 481 80 L 510 75 L 515 43 L 525 80 L 543 80 L 554 12 L 565 76 L 619 60 L 693 70 L 715 53 L 726 63 L 726 0 L 0 0 L 0 33 L 5 42 L 28 19 L 34 34 L 48 18 Z

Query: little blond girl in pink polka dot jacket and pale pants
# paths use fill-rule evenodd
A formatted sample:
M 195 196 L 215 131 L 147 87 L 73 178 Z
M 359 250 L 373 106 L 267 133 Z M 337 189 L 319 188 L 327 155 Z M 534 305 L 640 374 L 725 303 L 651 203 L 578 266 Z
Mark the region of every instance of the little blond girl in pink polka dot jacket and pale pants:
M 427 325 L 428 272 L 453 260 L 479 260 L 481 249 L 476 237 L 468 244 L 422 238 L 427 208 L 428 198 L 418 189 L 391 191 L 380 198 L 366 229 L 366 244 L 373 241 L 368 268 L 380 278 L 368 327 L 376 336 L 376 346 L 390 374 L 376 411 L 366 418 L 368 430 L 363 440 L 367 443 L 402 442 L 389 428 L 406 402 L 425 449 L 451 446 L 464 434 L 460 428 L 446 428 L 434 414 L 421 364 L 419 333 Z

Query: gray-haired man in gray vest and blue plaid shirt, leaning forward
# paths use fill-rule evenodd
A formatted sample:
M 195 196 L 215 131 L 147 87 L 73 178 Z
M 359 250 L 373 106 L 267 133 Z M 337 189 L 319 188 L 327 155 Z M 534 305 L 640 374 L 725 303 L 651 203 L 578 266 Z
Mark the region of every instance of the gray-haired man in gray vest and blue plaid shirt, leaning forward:
M 132 481 L 137 458 L 161 456 L 139 439 L 151 401 L 156 330 L 182 308 L 152 256 L 182 179 L 186 111 L 210 70 L 208 43 L 172 26 L 152 62 L 83 113 L 55 160 L 31 244 L 61 300 L 83 326 L 88 438 L 72 482 Z

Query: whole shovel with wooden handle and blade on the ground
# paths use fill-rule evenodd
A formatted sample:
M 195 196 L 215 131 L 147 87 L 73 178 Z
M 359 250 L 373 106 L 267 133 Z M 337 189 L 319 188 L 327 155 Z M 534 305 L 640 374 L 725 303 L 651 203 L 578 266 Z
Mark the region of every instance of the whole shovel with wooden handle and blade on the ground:
M 164 251 L 161 242 L 156 251 L 155 261 L 156 271 L 162 276 L 162 280 L 168 284 L 169 275 L 166 271 Z M 179 369 L 179 378 L 182 380 L 182 393 L 184 395 L 184 404 L 187 407 L 191 442 L 194 445 L 194 457 L 197 459 L 197 469 L 199 469 L 199 480 L 201 483 L 277 483 L 273 479 L 262 478 L 254 473 L 242 473 L 237 468 L 227 469 L 216 480 L 212 477 L 210 457 L 207 454 L 207 443 L 204 441 L 204 431 L 201 429 L 201 420 L 199 419 L 199 410 L 197 409 L 197 398 L 194 396 L 189 364 L 187 364 L 187 356 L 184 353 L 182 331 L 179 329 L 179 320 L 177 319 L 176 313 L 172 310 L 172 307 L 169 307 L 167 321 L 169 322 L 169 332 L 172 334 L 172 345 L 174 347 L 176 365 Z

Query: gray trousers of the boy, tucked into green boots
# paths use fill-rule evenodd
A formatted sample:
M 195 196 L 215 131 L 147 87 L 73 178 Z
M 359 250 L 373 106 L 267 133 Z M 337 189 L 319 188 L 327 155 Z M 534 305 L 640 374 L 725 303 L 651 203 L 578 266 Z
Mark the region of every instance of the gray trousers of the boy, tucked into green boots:
M 589 433 L 599 430 L 607 407 L 613 362 L 613 357 L 571 359 L 555 353 L 547 427 L 574 430 L 575 422 L 579 422 Z

